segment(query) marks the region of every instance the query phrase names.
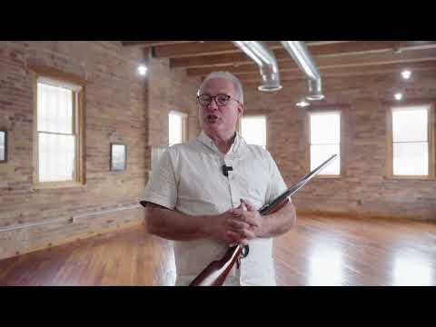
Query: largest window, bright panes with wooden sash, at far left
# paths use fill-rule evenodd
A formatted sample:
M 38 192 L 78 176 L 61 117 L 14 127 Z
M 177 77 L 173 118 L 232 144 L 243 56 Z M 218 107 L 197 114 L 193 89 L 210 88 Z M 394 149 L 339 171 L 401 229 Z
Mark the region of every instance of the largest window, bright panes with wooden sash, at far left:
M 35 95 L 35 184 L 84 183 L 83 86 L 38 75 Z

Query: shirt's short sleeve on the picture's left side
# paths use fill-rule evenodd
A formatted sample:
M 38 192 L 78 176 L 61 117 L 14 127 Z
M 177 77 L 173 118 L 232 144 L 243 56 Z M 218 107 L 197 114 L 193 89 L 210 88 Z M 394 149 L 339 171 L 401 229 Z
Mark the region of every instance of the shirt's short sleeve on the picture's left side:
M 177 183 L 168 150 L 162 154 L 157 168 L 152 172 L 145 190 L 140 196 L 140 201 L 174 209 L 177 202 Z

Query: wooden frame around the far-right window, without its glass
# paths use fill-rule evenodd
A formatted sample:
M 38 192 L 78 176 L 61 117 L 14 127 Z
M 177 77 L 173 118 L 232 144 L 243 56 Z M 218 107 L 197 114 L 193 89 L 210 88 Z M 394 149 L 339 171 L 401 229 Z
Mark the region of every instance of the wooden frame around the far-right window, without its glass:
M 393 174 L 393 115 L 392 112 L 397 108 L 407 108 L 413 106 L 427 106 L 429 108 L 428 121 L 427 121 L 427 140 L 428 140 L 428 160 L 429 160 L 429 174 L 428 175 L 394 175 Z M 432 102 L 419 102 L 409 101 L 401 104 L 389 103 L 386 105 L 386 179 L 400 179 L 400 180 L 429 180 L 435 179 L 436 163 L 435 163 L 435 115 L 434 104 Z

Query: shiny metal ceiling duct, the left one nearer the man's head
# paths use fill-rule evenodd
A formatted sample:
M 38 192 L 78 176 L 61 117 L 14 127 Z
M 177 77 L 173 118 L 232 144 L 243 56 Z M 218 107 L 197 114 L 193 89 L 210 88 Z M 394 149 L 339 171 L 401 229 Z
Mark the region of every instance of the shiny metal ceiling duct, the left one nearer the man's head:
M 279 66 L 268 45 L 261 41 L 232 41 L 232 43 L 259 65 L 262 76 L 262 85 L 259 86 L 259 91 L 271 92 L 282 89 Z

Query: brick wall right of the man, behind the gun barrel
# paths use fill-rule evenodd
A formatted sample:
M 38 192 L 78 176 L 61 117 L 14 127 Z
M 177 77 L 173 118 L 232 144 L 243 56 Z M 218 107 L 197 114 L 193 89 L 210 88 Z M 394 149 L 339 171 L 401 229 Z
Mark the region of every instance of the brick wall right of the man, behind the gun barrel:
M 316 178 L 294 196 L 300 212 L 436 219 L 435 180 L 385 179 L 386 114 L 383 102 L 396 90 L 405 99 L 436 98 L 434 71 L 413 74 L 409 82 L 395 75 L 324 78 L 325 107 L 341 107 L 345 114 L 343 167 L 340 179 Z M 274 94 L 244 85 L 245 113 L 268 116 L 267 146 L 288 184 L 308 169 L 306 111 L 296 107 L 306 85 L 284 82 Z M 434 124 L 434 123 L 433 123 Z

